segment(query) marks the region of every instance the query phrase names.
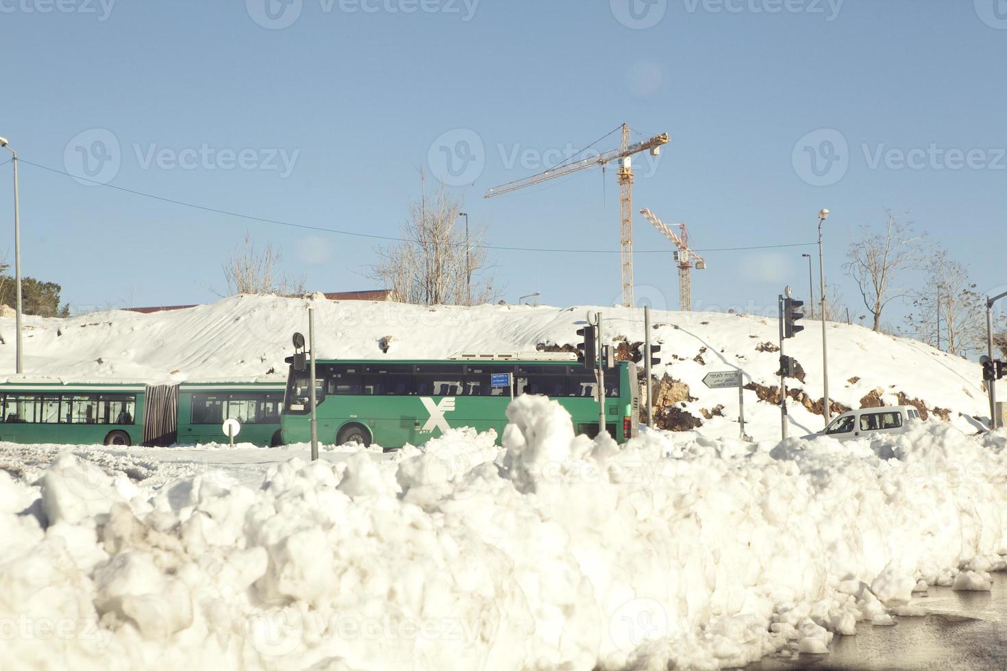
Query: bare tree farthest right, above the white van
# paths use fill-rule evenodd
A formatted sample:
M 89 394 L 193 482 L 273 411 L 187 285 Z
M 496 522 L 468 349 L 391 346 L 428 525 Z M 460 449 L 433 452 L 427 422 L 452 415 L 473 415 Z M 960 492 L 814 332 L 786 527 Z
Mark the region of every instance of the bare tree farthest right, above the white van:
M 912 306 L 905 322 L 913 337 L 936 346 L 940 321 L 943 349 L 966 356 L 985 348 L 986 302 L 969 279 L 969 269 L 952 261 L 946 250 L 937 251 L 926 264 L 926 282 L 913 294 Z

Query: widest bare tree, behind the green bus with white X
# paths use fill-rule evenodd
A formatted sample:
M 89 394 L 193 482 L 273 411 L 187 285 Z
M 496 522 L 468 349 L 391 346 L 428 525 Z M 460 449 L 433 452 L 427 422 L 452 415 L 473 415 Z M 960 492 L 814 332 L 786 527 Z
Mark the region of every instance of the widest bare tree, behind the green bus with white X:
M 401 303 L 419 305 L 479 305 L 494 302 L 497 292 L 486 273 L 485 227 L 458 225 L 461 203 L 441 185 L 428 194 L 420 171 L 421 198 L 410 206 L 402 240 L 375 249 L 378 263 L 370 278 L 392 290 Z M 469 278 L 470 285 L 469 285 Z

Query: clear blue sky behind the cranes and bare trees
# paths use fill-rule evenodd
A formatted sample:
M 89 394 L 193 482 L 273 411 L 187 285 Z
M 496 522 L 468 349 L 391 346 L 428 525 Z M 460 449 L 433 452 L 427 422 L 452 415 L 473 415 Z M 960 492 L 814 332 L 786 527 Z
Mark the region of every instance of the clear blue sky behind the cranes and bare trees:
M 1007 284 L 990 243 L 1007 200 L 1007 2 L 286 1 L 0 0 L 0 135 L 56 170 L 84 174 L 87 155 L 122 189 L 391 235 L 418 168 L 457 181 L 443 152 L 474 138 L 470 181 L 451 190 L 490 243 L 612 253 L 491 253 L 503 298 L 572 305 L 619 300 L 614 171 L 482 193 L 625 121 L 672 137 L 660 162 L 636 162 L 634 210 L 686 221 L 700 248 L 813 241 L 828 207 L 827 274 L 859 314 L 850 235 L 910 209 L 980 289 Z M 24 273 L 77 309 L 212 300 L 246 231 L 311 289 L 375 285 L 372 240 L 24 162 Z M 0 188 L 0 222 L 11 210 Z M 637 255 L 637 295 L 675 309 L 670 245 L 635 227 L 638 250 L 669 250 Z M 694 308 L 773 306 L 785 284 L 803 296 L 813 249 L 711 251 Z

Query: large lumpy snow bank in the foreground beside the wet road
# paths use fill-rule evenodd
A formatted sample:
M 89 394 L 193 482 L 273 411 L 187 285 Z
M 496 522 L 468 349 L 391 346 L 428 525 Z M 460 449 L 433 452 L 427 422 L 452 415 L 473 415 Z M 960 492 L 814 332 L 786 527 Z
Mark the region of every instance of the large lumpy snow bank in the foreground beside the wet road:
M 543 397 L 508 416 L 502 449 L 456 430 L 258 488 L 137 488 L 69 455 L 0 473 L 5 666 L 718 668 L 1005 567 L 1003 435 L 620 448 Z

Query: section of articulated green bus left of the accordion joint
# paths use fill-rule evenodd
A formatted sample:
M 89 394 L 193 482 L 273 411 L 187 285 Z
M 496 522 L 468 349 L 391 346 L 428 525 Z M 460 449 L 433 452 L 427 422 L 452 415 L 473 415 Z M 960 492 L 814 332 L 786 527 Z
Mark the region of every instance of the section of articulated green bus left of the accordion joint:
M 143 440 L 143 384 L 0 384 L 0 441 L 137 445 Z

